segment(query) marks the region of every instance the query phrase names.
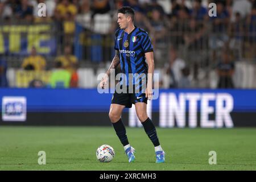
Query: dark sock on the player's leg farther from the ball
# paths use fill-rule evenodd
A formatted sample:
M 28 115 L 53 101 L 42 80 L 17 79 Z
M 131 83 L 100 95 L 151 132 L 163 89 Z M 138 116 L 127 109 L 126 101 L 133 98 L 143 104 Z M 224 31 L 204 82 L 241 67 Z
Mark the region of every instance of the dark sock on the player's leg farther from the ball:
M 142 125 L 144 127 L 144 130 L 146 131 L 146 134 L 150 138 L 151 142 L 154 144 L 154 146 L 159 146 L 159 140 L 158 135 L 156 134 L 155 126 L 152 123 L 150 118 L 147 118 L 146 121 L 142 122 Z

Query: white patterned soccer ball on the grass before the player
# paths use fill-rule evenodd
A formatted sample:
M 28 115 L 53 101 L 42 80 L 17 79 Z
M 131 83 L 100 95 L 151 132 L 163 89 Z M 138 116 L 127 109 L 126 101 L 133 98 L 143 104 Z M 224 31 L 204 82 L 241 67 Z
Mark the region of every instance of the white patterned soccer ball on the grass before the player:
M 108 163 L 114 158 L 114 149 L 108 144 L 102 144 L 96 151 L 96 157 L 102 163 Z

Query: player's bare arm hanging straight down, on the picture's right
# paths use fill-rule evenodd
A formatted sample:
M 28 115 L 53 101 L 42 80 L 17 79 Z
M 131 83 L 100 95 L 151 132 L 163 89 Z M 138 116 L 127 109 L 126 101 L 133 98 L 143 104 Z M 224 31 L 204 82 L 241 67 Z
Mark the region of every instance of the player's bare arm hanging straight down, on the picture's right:
M 153 52 L 146 52 L 145 57 L 147 60 L 147 88 L 146 88 L 146 97 L 148 100 L 151 100 L 153 97 L 153 90 L 152 90 L 152 84 L 153 84 L 153 75 L 154 75 L 154 53 Z

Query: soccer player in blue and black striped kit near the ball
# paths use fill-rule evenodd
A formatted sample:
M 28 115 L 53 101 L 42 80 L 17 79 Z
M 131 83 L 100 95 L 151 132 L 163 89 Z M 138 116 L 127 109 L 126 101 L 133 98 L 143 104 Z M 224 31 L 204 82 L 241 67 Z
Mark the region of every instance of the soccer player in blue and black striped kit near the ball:
M 122 90 L 132 88 L 133 92 L 130 93 L 129 90 L 129 92 L 119 93 L 117 92 L 117 86 L 115 87 L 109 118 L 112 121 L 115 133 L 123 144 L 129 163 L 133 162 L 135 160 L 135 149 L 129 144 L 121 114 L 125 107 L 130 108 L 134 104 L 139 121 L 141 121 L 146 134 L 155 146 L 156 163 L 163 163 L 165 153 L 160 146 L 155 126 L 147 116 L 147 100 L 151 100 L 153 96 L 154 55 L 151 40 L 146 31 L 134 26 L 134 10 L 130 7 L 122 7 L 118 10 L 117 23 L 120 28 L 115 31 L 115 56 L 105 77 L 102 78 L 100 86 L 104 89 L 104 86 L 108 84 L 110 71 L 117 68 L 121 63 L 123 76 L 118 82 L 119 88 Z M 137 73 L 137 76 L 131 78 L 130 75 L 135 73 Z

